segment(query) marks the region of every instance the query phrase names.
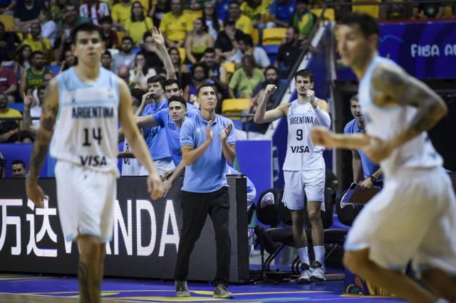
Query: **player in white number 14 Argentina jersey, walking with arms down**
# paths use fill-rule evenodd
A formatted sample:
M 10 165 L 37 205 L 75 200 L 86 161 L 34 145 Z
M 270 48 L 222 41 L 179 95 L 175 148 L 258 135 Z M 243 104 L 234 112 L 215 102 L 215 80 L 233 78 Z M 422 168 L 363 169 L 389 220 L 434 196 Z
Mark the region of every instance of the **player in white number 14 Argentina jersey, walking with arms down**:
M 38 173 L 52 137 L 62 230 L 67 240 L 78 241 L 80 250 L 80 301 L 100 302 L 105 243 L 113 233 L 118 119 L 135 156 L 150 172 L 147 188 L 152 199 L 160 196 L 162 184 L 135 125 L 127 84 L 100 66 L 104 50 L 100 28 L 83 23 L 72 35 L 71 50 L 78 65 L 52 79 L 46 89 L 26 192 L 37 207 L 43 207 Z

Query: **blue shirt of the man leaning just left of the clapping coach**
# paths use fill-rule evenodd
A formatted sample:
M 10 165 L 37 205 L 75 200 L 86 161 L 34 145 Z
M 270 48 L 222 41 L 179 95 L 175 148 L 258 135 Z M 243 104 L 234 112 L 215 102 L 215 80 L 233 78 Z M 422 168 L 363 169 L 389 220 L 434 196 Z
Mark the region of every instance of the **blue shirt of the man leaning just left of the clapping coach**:
M 188 104 L 187 104 L 188 105 Z M 195 117 L 199 115 L 199 110 L 196 110 L 195 107 L 187 110 L 187 118 Z M 155 121 L 160 124 L 160 127 L 165 128 L 165 133 L 167 137 L 168 147 L 170 147 L 171 158 L 174 162 L 175 166 L 179 165 L 182 161 L 182 150 L 180 149 L 180 142 L 179 142 L 179 134 L 180 134 L 180 127 L 170 116 L 170 110 L 167 108 L 163 108 L 155 114 L 152 115 Z

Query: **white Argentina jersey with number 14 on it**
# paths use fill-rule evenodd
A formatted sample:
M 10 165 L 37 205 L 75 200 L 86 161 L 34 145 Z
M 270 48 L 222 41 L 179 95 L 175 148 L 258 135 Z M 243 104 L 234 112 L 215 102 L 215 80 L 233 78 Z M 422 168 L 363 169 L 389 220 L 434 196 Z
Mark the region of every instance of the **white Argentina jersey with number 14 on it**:
M 98 80 L 86 84 L 74 68 L 56 77 L 58 115 L 51 156 L 96 171 L 118 173 L 118 107 L 116 76 L 100 67 Z

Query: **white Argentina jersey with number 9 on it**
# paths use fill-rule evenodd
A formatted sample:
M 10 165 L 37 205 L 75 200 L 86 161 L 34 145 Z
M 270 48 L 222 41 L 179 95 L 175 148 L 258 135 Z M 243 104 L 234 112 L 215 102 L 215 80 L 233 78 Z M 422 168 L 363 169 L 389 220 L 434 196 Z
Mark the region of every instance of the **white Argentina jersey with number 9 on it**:
M 284 171 L 310 171 L 325 167 L 324 148 L 314 145 L 311 128 L 318 125 L 314 108 L 307 102 L 300 105 L 298 100 L 291 102 L 287 115 L 288 143 Z

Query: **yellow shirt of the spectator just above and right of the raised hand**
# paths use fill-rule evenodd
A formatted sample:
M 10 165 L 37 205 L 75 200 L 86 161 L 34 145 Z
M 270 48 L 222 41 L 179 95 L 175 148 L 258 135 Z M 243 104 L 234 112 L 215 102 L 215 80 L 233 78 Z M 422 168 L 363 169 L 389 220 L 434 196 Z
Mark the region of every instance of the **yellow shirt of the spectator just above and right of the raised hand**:
M 192 17 L 185 11 L 177 17 L 170 11 L 163 15 L 160 22 L 160 31 L 171 41 L 184 40 L 187 33 L 192 31 L 192 29 Z

